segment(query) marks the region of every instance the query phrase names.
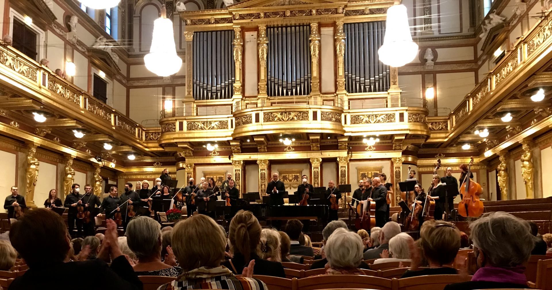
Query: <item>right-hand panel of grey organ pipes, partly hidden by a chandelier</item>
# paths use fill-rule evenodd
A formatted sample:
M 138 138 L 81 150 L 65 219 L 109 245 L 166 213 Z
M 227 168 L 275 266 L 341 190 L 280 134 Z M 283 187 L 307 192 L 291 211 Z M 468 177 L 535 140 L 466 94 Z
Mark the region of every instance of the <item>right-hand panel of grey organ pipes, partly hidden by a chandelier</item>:
M 385 22 L 344 24 L 345 88 L 347 93 L 386 92 L 390 87 L 389 66 L 379 61 Z

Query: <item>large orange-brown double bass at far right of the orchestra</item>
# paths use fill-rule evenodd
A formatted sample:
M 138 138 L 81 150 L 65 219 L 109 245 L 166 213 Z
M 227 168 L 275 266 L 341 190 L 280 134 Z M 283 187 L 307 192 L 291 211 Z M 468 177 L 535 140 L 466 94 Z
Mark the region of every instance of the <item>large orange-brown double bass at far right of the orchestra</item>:
M 483 202 L 479 199 L 483 189 L 479 183 L 470 179 L 471 164 L 473 163 L 474 158 L 471 158 L 468 173 L 460 186 L 460 194 L 463 194 L 464 198 L 458 203 L 458 214 L 463 217 L 479 217 L 485 210 Z

